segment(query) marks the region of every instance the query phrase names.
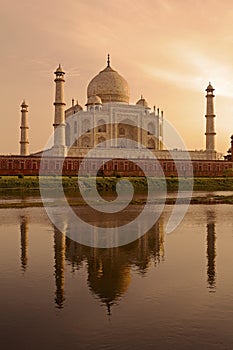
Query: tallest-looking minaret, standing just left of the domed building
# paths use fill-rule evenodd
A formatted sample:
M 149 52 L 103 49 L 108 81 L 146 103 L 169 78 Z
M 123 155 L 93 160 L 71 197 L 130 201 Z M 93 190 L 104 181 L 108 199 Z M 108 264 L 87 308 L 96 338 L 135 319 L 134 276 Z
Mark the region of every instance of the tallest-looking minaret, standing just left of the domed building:
M 59 64 L 56 72 L 55 83 L 55 115 L 54 115 L 54 151 L 57 156 L 65 156 L 66 147 L 65 147 L 65 101 L 64 101 L 64 75 L 63 69 Z

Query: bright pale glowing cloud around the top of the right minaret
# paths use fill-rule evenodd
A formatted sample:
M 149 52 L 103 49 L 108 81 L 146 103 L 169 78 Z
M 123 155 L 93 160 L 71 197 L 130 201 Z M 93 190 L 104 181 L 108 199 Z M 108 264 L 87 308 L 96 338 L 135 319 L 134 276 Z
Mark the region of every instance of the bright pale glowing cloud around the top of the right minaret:
M 188 90 L 202 90 L 209 81 L 213 83 L 218 95 L 233 97 L 232 65 L 214 59 L 193 46 L 173 43 L 167 52 L 166 61 L 160 65 L 141 64 L 141 69 L 156 79 L 175 84 Z M 165 55 L 165 53 L 163 53 Z

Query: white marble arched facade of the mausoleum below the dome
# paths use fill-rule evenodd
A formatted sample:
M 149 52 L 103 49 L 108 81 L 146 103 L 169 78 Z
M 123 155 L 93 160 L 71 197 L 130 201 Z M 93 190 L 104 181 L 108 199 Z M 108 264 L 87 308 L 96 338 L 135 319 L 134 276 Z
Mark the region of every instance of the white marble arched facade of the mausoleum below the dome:
M 66 146 L 70 156 L 83 156 L 94 147 L 105 148 L 103 154 L 106 148 L 129 149 L 130 153 L 144 147 L 152 152 L 162 149 L 163 115 L 158 110 L 151 112 L 140 104 L 118 102 L 89 105 L 86 111 L 75 112 L 75 107 L 74 114 L 70 110 L 66 114 Z

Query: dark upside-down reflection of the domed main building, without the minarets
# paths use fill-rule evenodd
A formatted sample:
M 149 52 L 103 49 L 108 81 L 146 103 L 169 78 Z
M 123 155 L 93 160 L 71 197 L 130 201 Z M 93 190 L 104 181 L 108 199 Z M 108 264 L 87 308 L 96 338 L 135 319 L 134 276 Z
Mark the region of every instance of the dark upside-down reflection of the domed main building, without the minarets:
M 162 219 L 160 219 L 162 220 Z M 97 221 L 96 221 L 97 222 Z M 66 237 L 66 259 L 73 268 L 84 268 L 87 263 L 88 287 L 101 304 L 111 307 L 118 304 L 129 288 L 131 267 L 144 275 L 150 263 L 157 264 L 164 257 L 163 225 L 156 223 L 143 237 L 118 248 L 102 249 L 83 246 Z

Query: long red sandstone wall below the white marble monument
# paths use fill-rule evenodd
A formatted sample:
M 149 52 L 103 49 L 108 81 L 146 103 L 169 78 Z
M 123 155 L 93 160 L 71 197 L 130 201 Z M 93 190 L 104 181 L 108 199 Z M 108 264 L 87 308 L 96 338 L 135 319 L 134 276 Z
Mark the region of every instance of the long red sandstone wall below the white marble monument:
M 74 176 L 78 174 L 79 166 L 82 159 L 67 157 L 63 164 L 62 158 L 43 158 L 33 156 L 0 156 L 0 176 L 4 175 L 39 175 L 41 166 L 41 173 L 43 175 L 56 175 L 61 172 L 67 176 Z M 161 171 L 158 164 L 152 159 L 137 160 L 147 173 L 151 176 L 160 176 Z M 176 176 L 177 167 L 181 176 L 223 176 L 226 172 L 233 171 L 232 161 L 201 161 L 193 160 L 192 165 L 185 160 L 159 160 L 160 166 L 165 176 Z M 176 167 L 177 164 L 177 167 Z M 133 160 L 114 159 L 104 162 L 101 158 L 86 159 L 84 163 L 83 175 L 94 175 L 96 170 L 100 168 L 99 175 L 105 176 L 143 176 L 144 173 L 137 166 Z

